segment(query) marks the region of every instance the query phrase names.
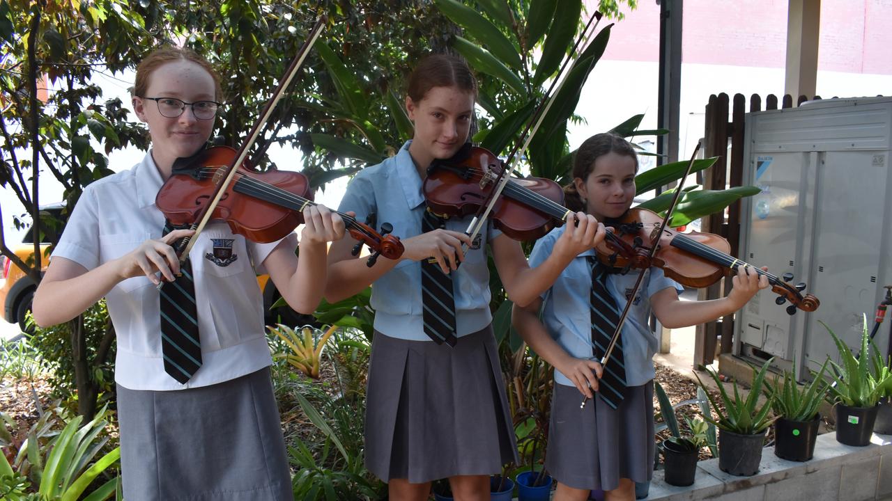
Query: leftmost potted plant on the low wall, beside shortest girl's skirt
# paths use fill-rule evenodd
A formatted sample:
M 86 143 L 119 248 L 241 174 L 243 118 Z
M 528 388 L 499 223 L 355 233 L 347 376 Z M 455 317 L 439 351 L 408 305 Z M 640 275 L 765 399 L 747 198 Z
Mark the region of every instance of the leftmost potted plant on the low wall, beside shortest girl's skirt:
M 689 486 L 694 483 L 700 448 L 706 446 L 708 425 L 699 419 L 691 420 L 684 416 L 690 433 L 682 435 L 675 409 L 659 382 L 654 383 L 654 392 L 657 394 L 663 423 L 672 432 L 672 437 L 660 444 L 665 463 L 665 481 L 669 485 Z

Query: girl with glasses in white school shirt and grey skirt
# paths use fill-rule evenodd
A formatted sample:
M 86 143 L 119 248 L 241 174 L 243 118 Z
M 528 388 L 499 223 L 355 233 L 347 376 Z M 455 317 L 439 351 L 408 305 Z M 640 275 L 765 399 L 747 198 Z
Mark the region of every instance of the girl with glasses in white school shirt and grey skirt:
M 180 267 L 171 244 L 193 232 L 162 236 L 155 195 L 174 160 L 204 147 L 219 101 L 219 77 L 195 53 L 165 47 L 145 58 L 133 106 L 152 150 L 134 168 L 87 186 L 34 297 L 35 321 L 44 326 L 107 300 L 118 336 L 128 501 L 293 499 L 256 274 L 268 272 L 294 309 L 311 313 L 326 282 L 326 242 L 343 236 L 341 218 L 321 206 L 304 210 L 300 260 L 293 234 L 260 244 L 226 223 L 208 225 L 190 252 L 202 363 L 181 383 L 162 361 L 155 285 L 159 275 L 175 279 Z M 215 246 L 227 252 L 215 254 Z

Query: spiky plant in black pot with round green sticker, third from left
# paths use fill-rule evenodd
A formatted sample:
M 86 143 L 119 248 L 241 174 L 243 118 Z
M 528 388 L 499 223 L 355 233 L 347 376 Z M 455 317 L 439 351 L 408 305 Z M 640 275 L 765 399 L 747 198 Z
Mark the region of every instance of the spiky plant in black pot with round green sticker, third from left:
M 795 362 L 794 362 L 795 364 Z M 821 414 L 818 406 L 827 394 L 824 380 L 826 362 L 821 371 L 807 385 L 800 386 L 789 371 L 784 371 L 783 382 L 775 376 L 765 383 L 765 396 L 771 400 L 777 416 L 774 422 L 774 456 L 789 461 L 808 461 L 814 455 Z

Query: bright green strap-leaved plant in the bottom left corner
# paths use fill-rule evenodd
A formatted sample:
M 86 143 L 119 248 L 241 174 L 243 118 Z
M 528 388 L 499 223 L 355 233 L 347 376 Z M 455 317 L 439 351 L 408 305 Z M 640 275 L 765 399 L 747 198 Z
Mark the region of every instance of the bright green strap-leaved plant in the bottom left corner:
M 114 495 L 118 487 L 117 477 L 84 496 L 90 484 L 120 460 L 120 448 L 113 448 L 94 462 L 108 442 L 107 436 L 101 436 L 108 425 L 105 414 L 103 407 L 83 426 L 80 425 L 83 416 L 78 415 L 46 441 L 53 435 L 47 433 L 47 428 L 54 420 L 49 417 L 51 413 L 45 413 L 41 425 L 32 428 L 28 439 L 22 442 L 12 464 L 0 454 L 3 485 L 12 485 L 2 498 L 10 501 L 32 499 L 25 494 L 27 491 L 35 491 L 41 501 L 100 501 Z

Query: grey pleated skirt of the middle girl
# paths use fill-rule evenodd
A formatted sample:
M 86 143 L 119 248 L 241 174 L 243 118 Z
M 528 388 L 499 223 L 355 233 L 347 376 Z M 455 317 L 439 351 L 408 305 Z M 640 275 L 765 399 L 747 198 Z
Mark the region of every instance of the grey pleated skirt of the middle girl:
M 366 466 L 422 483 L 498 473 L 518 461 L 491 327 L 454 348 L 375 333 L 368 371 Z

